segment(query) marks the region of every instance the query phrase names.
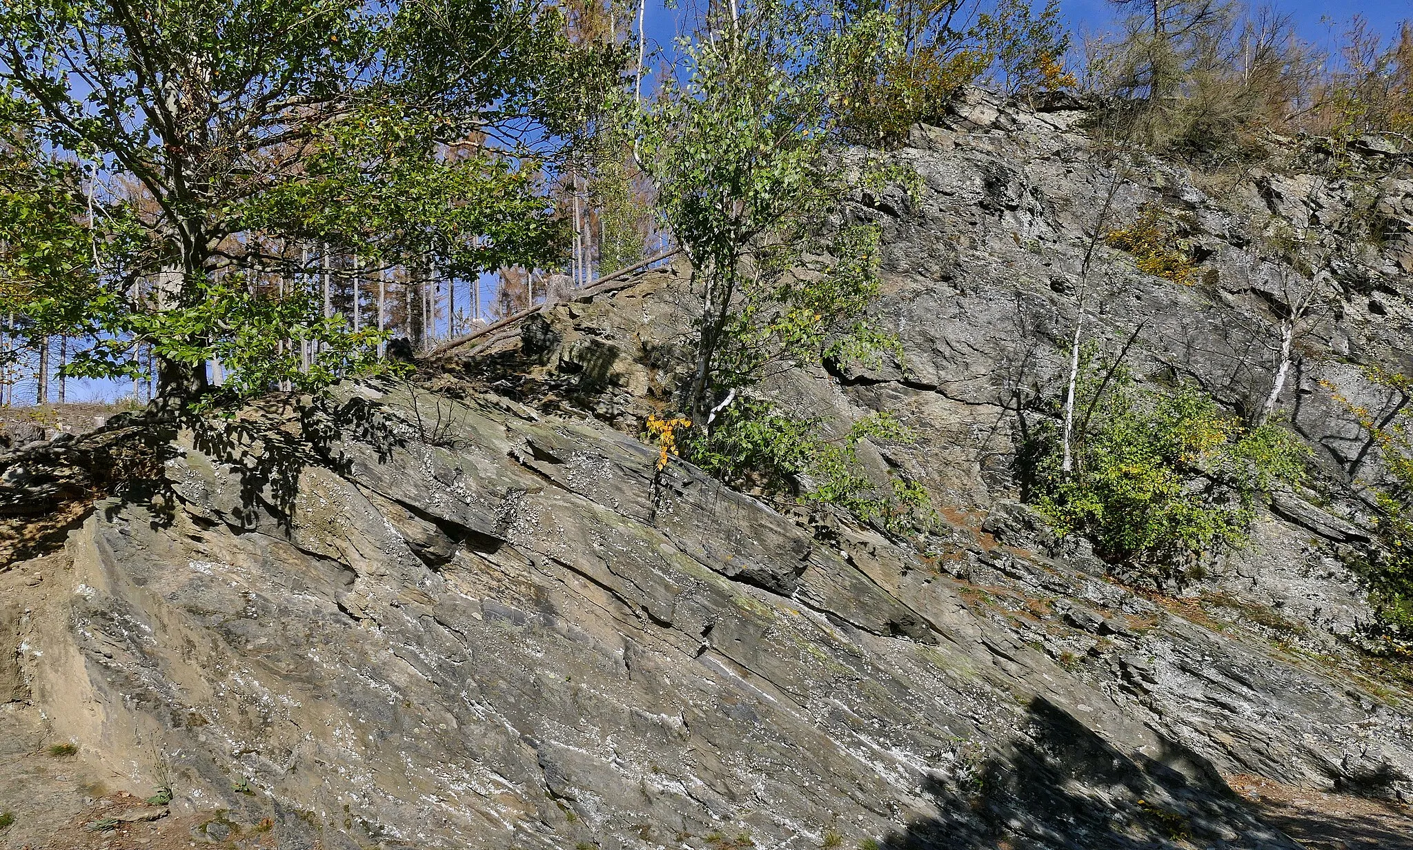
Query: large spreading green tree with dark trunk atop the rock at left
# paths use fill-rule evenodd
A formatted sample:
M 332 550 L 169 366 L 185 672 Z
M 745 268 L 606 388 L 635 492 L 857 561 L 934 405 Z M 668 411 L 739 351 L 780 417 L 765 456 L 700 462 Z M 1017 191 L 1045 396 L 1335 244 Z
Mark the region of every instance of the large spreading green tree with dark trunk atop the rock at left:
M 536 0 L 4 0 L 0 27 L 17 136 L 85 198 L 92 264 L 64 263 L 88 282 L 57 292 L 96 287 L 76 312 L 100 343 L 73 369 L 130 373 L 147 345 L 170 400 L 201 393 L 213 356 L 250 391 L 366 367 L 372 335 L 268 285 L 312 271 L 301 241 L 462 274 L 550 254 L 516 138 L 552 138 L 612 72 Z M 40 250 L 4 226 L 14 256 Z M 317 339 L 329 374 L 301 373 L 285 336 Z

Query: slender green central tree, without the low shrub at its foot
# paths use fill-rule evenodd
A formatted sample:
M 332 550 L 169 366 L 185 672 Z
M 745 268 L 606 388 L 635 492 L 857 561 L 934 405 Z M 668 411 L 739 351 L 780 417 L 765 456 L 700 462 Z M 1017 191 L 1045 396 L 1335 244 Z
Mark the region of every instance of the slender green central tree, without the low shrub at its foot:
M 827 162 L 838 44 L 807 6 L 746 4 L 721 31 L 680 44 L 681 79 L 643 116 L 642 158 L 699 298 L 684 400 L 698 429 L 773 364 L 886 345 L 863 315 L 877 292 L 877 232 L 822 226 L 849 189 Z M 824 268 L 803 270 L 824 254 Z

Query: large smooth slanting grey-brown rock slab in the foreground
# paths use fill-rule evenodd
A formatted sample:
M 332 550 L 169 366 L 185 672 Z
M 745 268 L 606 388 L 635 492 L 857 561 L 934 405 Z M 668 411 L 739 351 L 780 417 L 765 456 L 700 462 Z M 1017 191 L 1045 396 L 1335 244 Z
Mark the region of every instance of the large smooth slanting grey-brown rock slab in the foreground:
M 290 846 L 1130 847 L 1170 822 L 1290 846 L 1129 705 L 1194 671 L 1129 659 L 1137 696 L 1105 693 L 872 532 L 821 545 L 603 426 L 404 393 L 362 390 L 326 433 L 369 436 L 318 450 L 188 435 L 170 511 L 99 505 L 20 624 L 54 734 L 134 788 L 170 775 L 178 810 L 268 816 Z M 414 411 L 438 408 L 428 443 Z M 281 500 L 284 525 L 260 508 Z M 1030 570 L 1051 585 L 1034 600 L 1092 582 Z M 1195 671 L 1217 688 L 1299 693 L 1286 741 L 1276 717 L 1221 719 L 1241 770 L 1337 772 L 1340 727 L 1373 719 L 1145 600 L 1102 601 L 1054 618 L 1219 652 L 1229 671 Z

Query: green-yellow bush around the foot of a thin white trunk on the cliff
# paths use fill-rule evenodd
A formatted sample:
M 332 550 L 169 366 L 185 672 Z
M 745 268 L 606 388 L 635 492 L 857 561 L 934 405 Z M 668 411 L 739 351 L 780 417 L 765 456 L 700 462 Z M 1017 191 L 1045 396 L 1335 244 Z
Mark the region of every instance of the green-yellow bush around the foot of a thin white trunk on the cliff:
M 1061 472 L 1058 428 L 1046 429 L 1029 487 L 1057 532 L 1088 537 L 1106 561 L 1176 566 L 1238 546 L 1256 500 L 1303 473 L 1310 449 L 1279 425 L 1248 429 L 1190 387 L 1108 383 L 1080 408 L 1074 470 Z

